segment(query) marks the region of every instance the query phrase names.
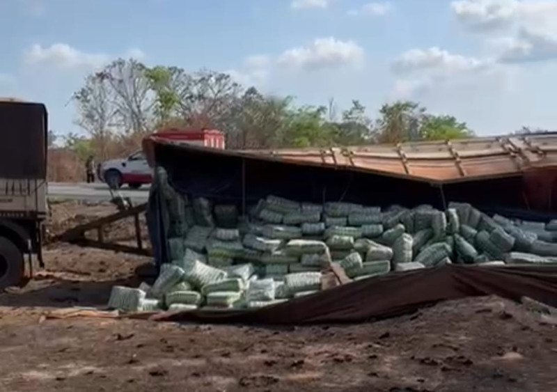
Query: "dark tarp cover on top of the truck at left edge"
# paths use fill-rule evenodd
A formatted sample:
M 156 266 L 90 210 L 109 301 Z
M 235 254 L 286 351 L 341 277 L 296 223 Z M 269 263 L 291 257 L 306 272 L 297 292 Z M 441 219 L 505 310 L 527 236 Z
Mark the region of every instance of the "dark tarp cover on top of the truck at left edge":
M 45 105 L 0 102 L 0 178 L 44 179 L 47 176 Z

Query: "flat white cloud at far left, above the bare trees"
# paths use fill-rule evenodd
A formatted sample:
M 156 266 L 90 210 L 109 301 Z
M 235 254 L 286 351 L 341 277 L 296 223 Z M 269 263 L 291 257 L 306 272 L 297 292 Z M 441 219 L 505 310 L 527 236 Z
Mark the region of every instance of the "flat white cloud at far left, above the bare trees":
M 56 43 L 50 47 L 34 44 L 24 52 L 27 64 L 48 63 L 56 68 L 99 67 L 109 60 L 106 54 L 80 52 L 68 44 Z

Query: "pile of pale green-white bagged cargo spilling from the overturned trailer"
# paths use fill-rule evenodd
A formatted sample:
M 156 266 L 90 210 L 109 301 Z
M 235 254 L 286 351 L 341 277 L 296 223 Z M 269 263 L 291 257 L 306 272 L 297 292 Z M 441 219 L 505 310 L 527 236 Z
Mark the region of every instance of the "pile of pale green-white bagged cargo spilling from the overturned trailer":
M 160 168 L 157 181 L 171 262 L 152 287 L 114 287 L 111 308 L 260 308 L 317 292 L 331 263 L 355 281 L 451 263 L 557 263 L 557 221 L 489 217 L 465 203 L 382 210 L 277 196 L 240 214 L 178 194 Z

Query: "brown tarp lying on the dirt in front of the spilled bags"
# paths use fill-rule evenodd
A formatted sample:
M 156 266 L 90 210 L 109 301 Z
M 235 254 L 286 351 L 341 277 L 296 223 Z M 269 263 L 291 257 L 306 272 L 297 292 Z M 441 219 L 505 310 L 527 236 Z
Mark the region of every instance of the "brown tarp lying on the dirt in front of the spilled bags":
M 348 283 L 258 310 L 164 313 L 162 321 L 240 324 L 339 324 L 411 313 L 447 299 L 498 295 L 530 297 L 557 306 L 557 266 L 448 265 Z

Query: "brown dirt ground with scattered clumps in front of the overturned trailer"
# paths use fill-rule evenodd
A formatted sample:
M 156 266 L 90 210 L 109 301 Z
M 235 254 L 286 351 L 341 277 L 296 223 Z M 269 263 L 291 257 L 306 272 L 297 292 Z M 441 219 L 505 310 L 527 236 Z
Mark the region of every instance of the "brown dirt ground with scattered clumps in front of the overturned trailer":
M 53 210 L 59 233 L 113 207 Z M 26 288 L 0 295 L 0 392 L 557 391 L 556 325 L 496 297 L 352 326 L 45 320 L 53 308 L 104 306 L 148 260 L 51 244 L 45 262 Z

